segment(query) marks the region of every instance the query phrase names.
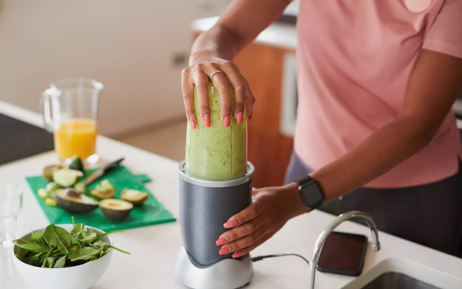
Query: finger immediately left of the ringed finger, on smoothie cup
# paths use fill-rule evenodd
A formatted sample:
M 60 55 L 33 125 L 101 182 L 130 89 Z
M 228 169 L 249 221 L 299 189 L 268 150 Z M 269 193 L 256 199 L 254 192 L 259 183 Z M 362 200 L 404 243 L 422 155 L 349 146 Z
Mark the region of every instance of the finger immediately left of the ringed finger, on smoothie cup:
M 203 65 L 198 64 L 192 67 L 191 76 L 197 88 L 199 98 L 199 110 L 205 127 L 210 127 L 210 103 L 208 98 L 208 76 L 203 71 Z

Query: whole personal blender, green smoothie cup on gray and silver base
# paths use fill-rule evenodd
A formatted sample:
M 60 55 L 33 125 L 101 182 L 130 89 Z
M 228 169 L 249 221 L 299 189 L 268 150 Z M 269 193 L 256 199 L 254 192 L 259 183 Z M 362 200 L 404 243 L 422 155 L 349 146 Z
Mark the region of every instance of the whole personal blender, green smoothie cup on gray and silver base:
M 211 125 L 206 128 L 201 121 L 195 88 L 198 122 L 195 130 L 188 125 L 186 158 L 178 167 L 184 247 L 178 252 L 175 277 L 193 289 L 236 289 L 253 277 L 250 256 L 219 255 L 215 242 L 229 230 L 223 224 L 249 206 L 254 167 L 247 161 L 246 118 L 237 124 L 231 116 L 225 127 L 218 90 L 212 83 L 208 89 Z

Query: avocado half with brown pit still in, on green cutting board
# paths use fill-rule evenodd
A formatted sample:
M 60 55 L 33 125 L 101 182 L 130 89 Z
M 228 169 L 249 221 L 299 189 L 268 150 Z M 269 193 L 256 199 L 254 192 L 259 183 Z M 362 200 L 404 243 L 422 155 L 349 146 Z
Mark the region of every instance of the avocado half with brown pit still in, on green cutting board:
M 69 192 L 67 192 L 69 190 Z M 73 189 L 72 189 L 73 190 Z M 86 195 L 71 192 L 71 189 L 57 189 L 53 193 L 56 205 L 68 212 L 91 212 L 98 207 L 98 202 Z

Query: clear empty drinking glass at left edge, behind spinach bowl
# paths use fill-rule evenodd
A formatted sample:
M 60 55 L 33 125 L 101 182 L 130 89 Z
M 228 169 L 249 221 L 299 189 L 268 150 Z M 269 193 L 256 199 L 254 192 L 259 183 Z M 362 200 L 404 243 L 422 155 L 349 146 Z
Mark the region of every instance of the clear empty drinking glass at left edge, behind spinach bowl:
M 22 189 L 12 184 L 0 183 L 0 245 L 11 244 L 12 240 L 18 238 L 22 206 Z

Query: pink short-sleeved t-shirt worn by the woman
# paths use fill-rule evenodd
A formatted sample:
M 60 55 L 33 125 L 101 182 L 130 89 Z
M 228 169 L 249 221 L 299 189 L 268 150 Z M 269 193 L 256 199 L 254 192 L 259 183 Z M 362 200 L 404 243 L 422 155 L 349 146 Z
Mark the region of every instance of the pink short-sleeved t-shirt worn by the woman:
M 462 0 L 301 0 L 297 30 L 295 152 L 316 170 L 398 116 L 420 49 L 462 58 Z M 460 155 L 450 112 L 427 147 L 366 186 L 432 183 Z

